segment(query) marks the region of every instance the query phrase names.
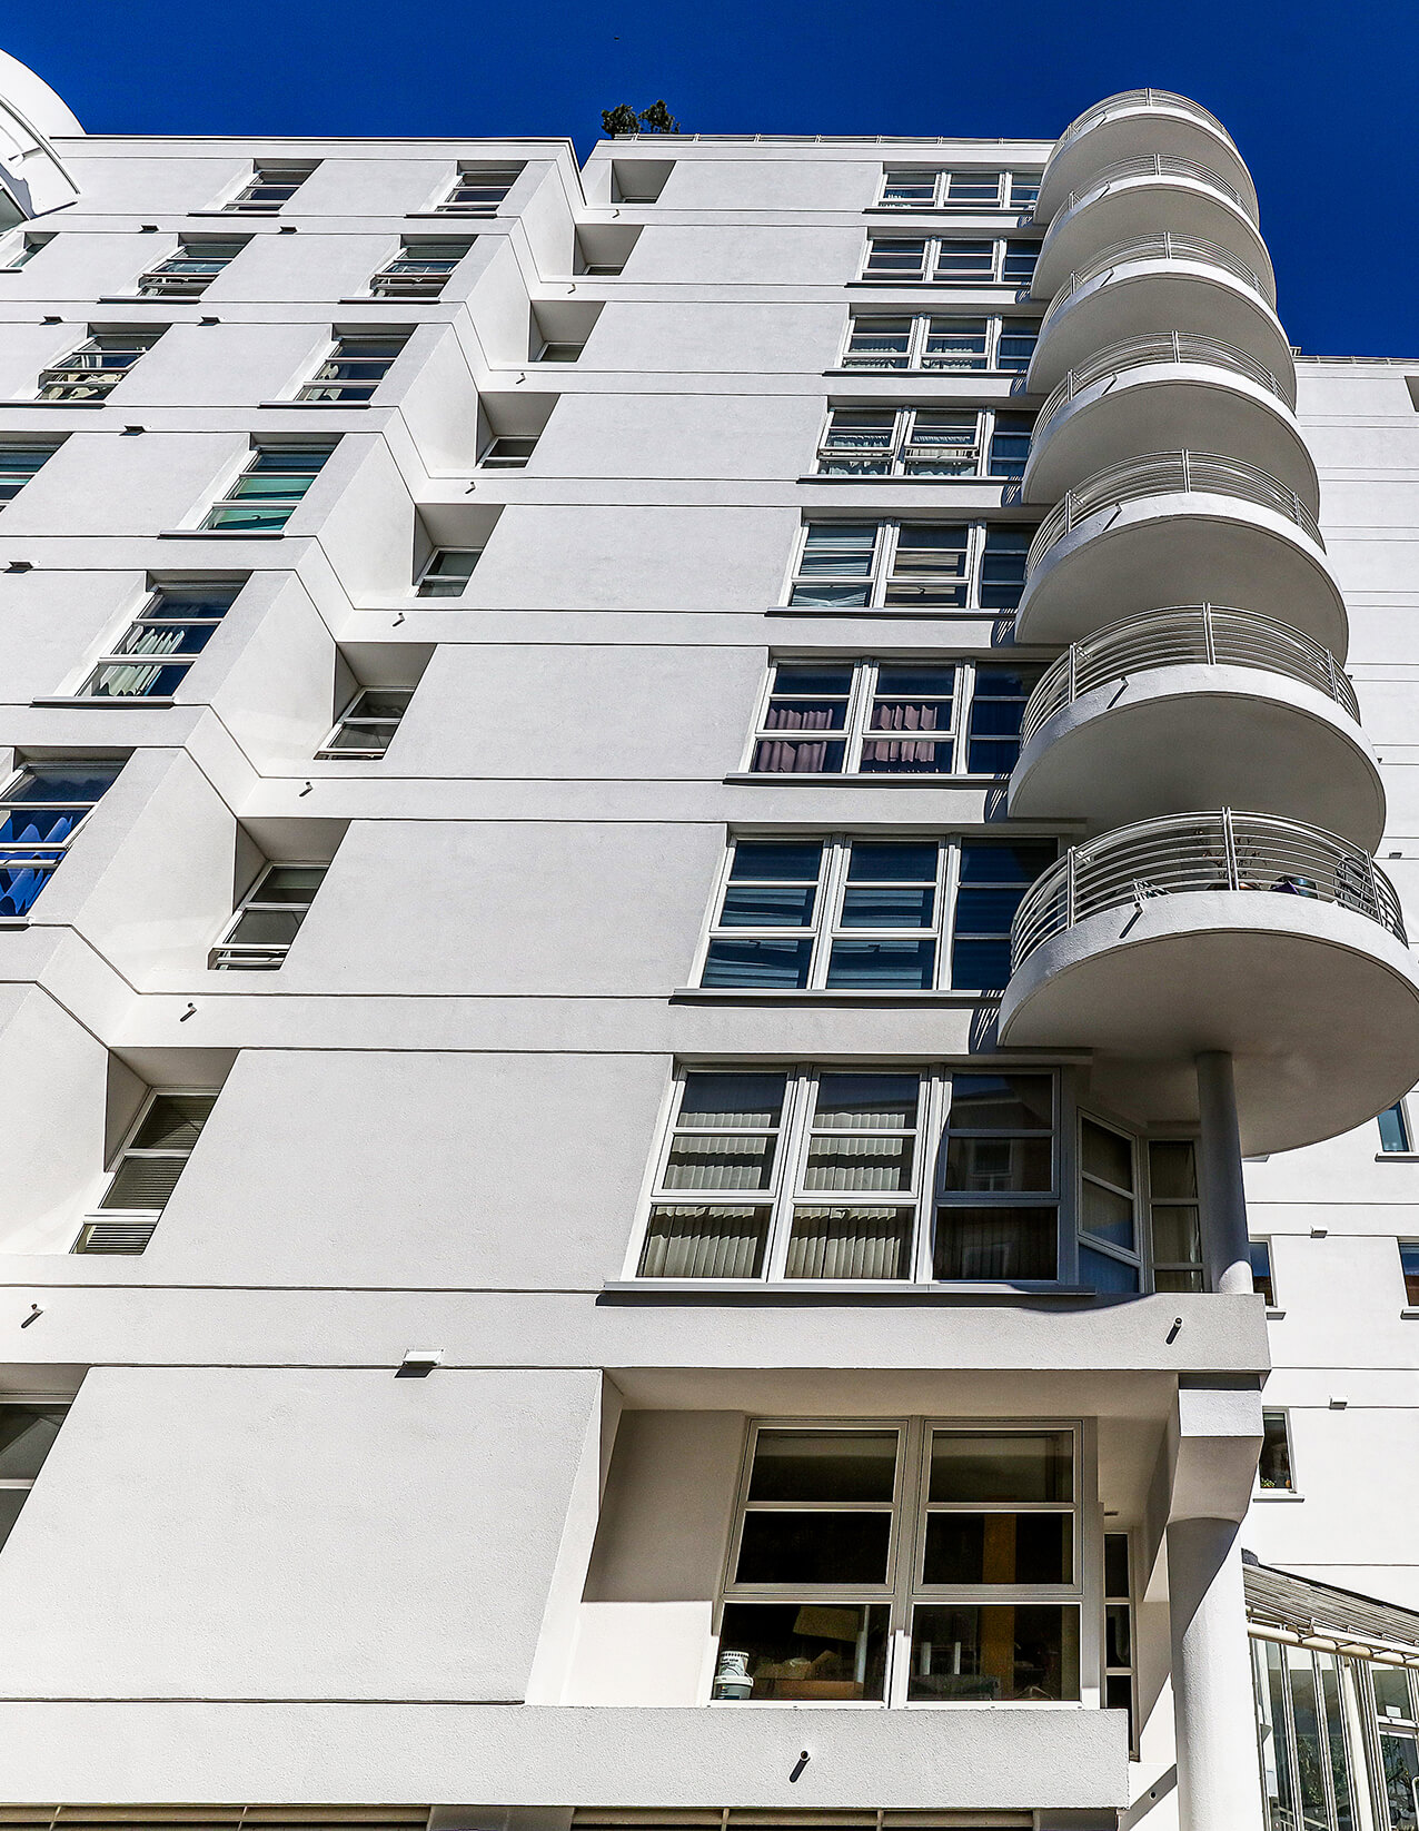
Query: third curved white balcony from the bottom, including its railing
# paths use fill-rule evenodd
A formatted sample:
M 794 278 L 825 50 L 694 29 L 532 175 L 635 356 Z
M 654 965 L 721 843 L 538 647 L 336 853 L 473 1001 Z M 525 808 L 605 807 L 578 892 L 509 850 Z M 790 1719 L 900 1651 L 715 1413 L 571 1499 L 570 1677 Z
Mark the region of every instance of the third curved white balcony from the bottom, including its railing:
M 1236 458 L 1154 452 L 1071 489 L 1031 542 L 1014 632 L 1062 646 L 1159 601 L 1245 604 L 1346 654 L 1346 606 L 1315 516 Z

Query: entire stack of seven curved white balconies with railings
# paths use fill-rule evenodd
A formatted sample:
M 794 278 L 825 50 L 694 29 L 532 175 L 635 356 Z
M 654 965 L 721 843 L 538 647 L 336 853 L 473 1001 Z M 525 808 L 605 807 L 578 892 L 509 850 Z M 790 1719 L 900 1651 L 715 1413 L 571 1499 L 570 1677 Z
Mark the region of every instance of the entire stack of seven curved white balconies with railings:
M 1315 1143 L 1419 1080 L 1419 974 L 1256 194 L 1207 110 L 1141 90 L 1066 132 L 1036 216 L 1016 639 L 1062 652 L 1009 807 L 1086 837 L 1020 906 L 1000 1038 L 1093 1049 L 1150 1119 L 1227 1051 L 1243 1146 Z

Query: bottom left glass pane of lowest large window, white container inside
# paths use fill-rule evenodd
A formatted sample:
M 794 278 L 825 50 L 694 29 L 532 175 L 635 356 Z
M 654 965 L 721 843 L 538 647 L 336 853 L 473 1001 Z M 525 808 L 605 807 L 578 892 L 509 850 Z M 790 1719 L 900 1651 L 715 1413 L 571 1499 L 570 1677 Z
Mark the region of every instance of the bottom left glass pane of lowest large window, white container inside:
M 848 1701 L 886 1696 L 886 1604 L 725 1602 L 716 1697 L 743 1674 L 753 1701 Z

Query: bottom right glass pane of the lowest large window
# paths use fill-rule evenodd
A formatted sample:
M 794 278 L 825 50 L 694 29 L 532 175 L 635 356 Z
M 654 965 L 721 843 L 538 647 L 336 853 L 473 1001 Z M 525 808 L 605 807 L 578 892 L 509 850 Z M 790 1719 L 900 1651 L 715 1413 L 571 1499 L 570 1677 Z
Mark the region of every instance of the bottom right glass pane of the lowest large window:
M 1078 1697 L 1078 1609 L 915 1608 L 906 1696 L 937 1703 Z

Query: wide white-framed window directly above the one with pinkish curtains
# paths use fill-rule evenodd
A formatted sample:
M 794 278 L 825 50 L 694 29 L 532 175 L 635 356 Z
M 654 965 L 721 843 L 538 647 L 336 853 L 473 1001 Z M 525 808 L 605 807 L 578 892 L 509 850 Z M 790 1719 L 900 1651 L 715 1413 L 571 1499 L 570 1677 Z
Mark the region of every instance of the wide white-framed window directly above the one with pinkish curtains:
M 789 604 L 1013 612 L 1031 535 L 985 522 L 807 522 Z

